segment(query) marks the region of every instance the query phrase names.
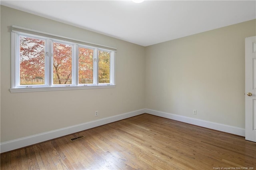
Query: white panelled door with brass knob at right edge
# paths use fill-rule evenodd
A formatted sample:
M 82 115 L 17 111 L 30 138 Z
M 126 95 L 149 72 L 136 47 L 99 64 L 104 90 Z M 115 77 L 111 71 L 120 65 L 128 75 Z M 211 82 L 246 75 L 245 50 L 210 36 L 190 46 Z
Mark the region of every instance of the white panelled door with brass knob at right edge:
M 256 36 L 245 39 L 245 139 L 256 142 Z

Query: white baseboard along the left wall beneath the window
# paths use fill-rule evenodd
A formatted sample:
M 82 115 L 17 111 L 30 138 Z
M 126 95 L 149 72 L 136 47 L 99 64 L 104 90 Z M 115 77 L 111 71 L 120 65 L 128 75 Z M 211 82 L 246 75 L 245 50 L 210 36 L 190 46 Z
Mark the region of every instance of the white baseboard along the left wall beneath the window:
M 98 127 L 98 126 L 112 123 L 115 121 L 120 121 L 122 119 L 126 119 L 126 118 L 140 115 L 143 113 L 145 113 L 145 109 L 140 109 L 137 111 L 132 111 L 132 112 L 128 112 L 128 113 L 124 113 L 124 114 L 120 114 L 120 115 L 116 115 L 116 116 L 112 116 L 112 117 L 107 117 L 104 119 L 98 119 L 96 121 L 90 121 L 87 123 L 82 123 L 82 124 L 74 125 L 71 127 L 60 128 L 60 129 L 52 130 L 49 132 L 35 134 L 35 135 L 27 136 L 24 138 L 18 138 L 18 139 L 10 140 L 7 142 L 2 142 L 2 143 L 0 143 L 0 152 L 1 153 L 8 152 L 10 150 L 22 148 L 25 146 L 39 143 L 39 142 L 44 142 L 46 140 L 50 140 L 50 139 L 58 138 L 58 137 L 65 136 L 68 134 L 80 132 L 82 130 Z

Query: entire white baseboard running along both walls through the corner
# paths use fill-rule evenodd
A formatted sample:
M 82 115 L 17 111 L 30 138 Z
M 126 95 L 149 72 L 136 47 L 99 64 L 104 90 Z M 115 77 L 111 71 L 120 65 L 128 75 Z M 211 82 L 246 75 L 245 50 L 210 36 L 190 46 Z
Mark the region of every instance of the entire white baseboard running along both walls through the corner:
M 32 144 L 44 142 L 46 140 L 51 140 L 51 139 L 65 136 L 68 134 L 80 132 L 82 130 L 86 130 L 89 128 L 98 127 L 98 126 L 112 123 L 115 121 L 120 121 L 122 119 L 141 115 L 143 113 L 148 113 L 148 114 L 156 115 L 159 117 L 165 117 L 168 119 L 173 119 L 173 120 L 181 121 L 184 123 L 190 123 L 192 125 L 198 125 L 200 127 L 211 128 L 214 130 L 220 130 L 222 132 L 228 132 L 231 134 L 245 136 L 244 128 L 233 127 L 233 126 L 229 126 L 229 125 L 214 123 L 214 122 L 210 122 L 210 121 L 204 121 L 204 120 L 200 120 L 200 119 L 194 119 L 194 118 L 190 118 L 190 117 L 175 115 L 175 114 L 171 114 L 171 113 L 165 113 L 165 112 L 161 112 L 161 111 L 155 111 L 152 109 L 140 109 L 137 111 L 132 111 L 132 112 L 128 112 L 128 113 L 124 113 L 124 114 L 120 114 L 120 115 L 116 115 L 116 116 L 112 116 L 112 117 L 107 117 L 104 119 L 98 119 L 96 121 L 90 121 L 87 123 L 82 123 L 82 124 L 74 125 L 71 127 L 60 128 L 60 129 L 52 130 L 49 132 L 35 134 L 35 135 L 27 136 L 24 138 L 18 138 L 18 139 L 10 140 L 7 142 L 2 142 L 2 143 L 0 143 L 0 153 L 8 152 L 10 150 L 14 150 L 14 149 L 22 148 L 22 147 L 29 146 Z

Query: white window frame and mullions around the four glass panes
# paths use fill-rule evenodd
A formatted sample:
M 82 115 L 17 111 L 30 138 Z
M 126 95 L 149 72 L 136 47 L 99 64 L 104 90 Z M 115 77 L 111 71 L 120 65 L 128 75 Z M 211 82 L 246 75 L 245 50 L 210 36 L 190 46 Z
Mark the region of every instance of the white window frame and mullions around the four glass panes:
M 20 36 L 37 38 L 45 41 L 45 85 L 20 85 Z M 72 84 L 53 84 L 53 42 L 72 45 Z M 59 91 L 59 90 L 75 90 L 75 89 L 98 89 L 98 88 L 114 88 L 115 84 L 115 53 L 116 49 L 103 45 L 93 44 L 47 34 L 36 30 L 12 26 L 11 32 L 11 93 L 33 92 L 33 91 Z M 93 49 L 93 83 L 78 83 L 78 47 Z M 98 83 L 98 51 L 110 52 L 110 83 Z

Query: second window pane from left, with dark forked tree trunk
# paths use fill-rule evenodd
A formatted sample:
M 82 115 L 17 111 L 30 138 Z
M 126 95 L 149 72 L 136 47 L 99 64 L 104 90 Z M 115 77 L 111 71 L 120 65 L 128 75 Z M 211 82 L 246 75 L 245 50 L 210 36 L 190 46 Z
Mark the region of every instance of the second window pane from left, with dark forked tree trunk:
M 53 43 L 53 84 L 72 84 L 72 45 Z

